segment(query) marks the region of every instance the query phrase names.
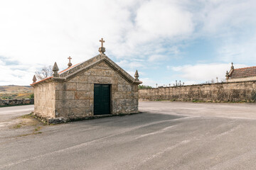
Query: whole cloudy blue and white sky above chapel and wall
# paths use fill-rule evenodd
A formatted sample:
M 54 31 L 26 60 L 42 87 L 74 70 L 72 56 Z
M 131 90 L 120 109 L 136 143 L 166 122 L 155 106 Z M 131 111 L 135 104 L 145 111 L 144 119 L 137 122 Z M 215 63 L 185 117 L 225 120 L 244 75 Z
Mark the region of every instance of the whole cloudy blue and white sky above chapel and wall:
M 0 0 L 0 85 L 105 54 L 144 85 L 225 80 L 256 66 L 255 0 Z

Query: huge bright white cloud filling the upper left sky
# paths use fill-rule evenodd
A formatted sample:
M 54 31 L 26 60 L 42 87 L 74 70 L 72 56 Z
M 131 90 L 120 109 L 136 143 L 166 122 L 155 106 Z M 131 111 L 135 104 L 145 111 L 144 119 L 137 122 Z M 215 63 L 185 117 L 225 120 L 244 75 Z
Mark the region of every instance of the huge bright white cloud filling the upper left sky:
M 0 6 L 0 55 L 30 64 L 93 57 L 101 37 L 108 46 L 131 23 L 129 11 L 114 1 L 1 1 Z

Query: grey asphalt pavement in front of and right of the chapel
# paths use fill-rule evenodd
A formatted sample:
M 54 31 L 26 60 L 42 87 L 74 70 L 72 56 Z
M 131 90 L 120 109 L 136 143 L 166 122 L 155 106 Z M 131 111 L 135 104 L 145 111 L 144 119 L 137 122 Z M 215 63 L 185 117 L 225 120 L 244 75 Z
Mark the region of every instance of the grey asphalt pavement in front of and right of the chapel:
M 256 169 L 255 104 L 140 102 L 139 110 L 2 137 L 0 169 Z

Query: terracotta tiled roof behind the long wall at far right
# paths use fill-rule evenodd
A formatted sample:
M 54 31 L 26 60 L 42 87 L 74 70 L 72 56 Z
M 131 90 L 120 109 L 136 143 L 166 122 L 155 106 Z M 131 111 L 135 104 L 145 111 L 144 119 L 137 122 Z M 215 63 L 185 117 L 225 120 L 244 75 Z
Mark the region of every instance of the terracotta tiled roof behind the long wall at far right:
M 234 69 L 230 75 L 230 78 L 241 78 L 241 77 L 254 77 L 256 76 L 256 67 L 245 67 L 240 69 Z

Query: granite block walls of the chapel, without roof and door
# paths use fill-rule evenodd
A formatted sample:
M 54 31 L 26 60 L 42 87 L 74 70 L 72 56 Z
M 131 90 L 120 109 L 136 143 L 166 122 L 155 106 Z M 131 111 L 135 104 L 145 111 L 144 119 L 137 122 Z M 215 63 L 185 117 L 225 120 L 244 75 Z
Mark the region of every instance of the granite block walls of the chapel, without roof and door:
M 67 81 L 35 86 L 36 115 L 73 119 L 93 116 L 94 84 L 111 85 L 112 115 L 138 112 L 138 86 L 130 84 L 103 61 Z

